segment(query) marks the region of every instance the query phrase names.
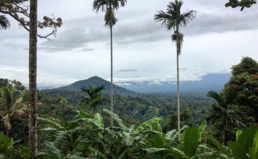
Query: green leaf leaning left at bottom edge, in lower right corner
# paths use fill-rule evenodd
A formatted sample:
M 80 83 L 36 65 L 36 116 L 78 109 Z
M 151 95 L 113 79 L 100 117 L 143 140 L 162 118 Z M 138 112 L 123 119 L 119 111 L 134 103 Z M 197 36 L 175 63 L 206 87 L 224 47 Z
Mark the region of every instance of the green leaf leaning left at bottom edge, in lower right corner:
M 248 156 L 240 143 L 235 141 L 228 141 L 228 145 L 236 159 L 248 159 Z

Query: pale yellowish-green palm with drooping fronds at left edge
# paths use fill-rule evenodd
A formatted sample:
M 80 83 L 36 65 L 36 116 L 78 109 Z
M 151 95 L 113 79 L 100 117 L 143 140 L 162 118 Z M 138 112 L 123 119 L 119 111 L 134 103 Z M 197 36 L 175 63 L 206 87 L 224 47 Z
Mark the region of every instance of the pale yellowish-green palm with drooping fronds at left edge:
M 23 90 L 19 95 L 17 87 L 11 84 L 0 90 L 0 116 L 6 127 L 6 135 L 9 136 L 12 125 L 12 118 L 22 116 L 28 112 L 28 104 L 23 100 L 27 90 Z

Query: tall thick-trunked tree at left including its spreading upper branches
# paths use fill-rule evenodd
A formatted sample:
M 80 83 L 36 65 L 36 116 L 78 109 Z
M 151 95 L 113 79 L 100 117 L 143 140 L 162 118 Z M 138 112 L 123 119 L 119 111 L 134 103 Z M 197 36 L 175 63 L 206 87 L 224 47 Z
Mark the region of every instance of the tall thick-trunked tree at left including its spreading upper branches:
M 37 0 L 31 0 L 29 7 L 24 3 L 28 0 L 2 0 L 0 1 L 0 13 L 8 15 L 18 21 L 20 26 L 29 32 L 29 148 L 36 155 L 36 116 L 37 116 L 37 94 L 36 94 L 36 70 L 37 70 L 37 37 L 49 39 L 55 35 L 57 28 L 62 26 L 61 18 L 43 17 L 43 22 L 37 20 Z M 37 28 L 52 28 L 47 35 L 37 34 Z

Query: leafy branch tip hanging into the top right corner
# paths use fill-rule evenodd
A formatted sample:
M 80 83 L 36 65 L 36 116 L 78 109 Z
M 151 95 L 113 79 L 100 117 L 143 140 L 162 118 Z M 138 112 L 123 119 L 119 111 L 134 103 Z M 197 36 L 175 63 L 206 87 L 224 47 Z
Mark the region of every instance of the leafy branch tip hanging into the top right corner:
M 244 8 L 250 8 L 254 4 L 256 4 L 256 0 L 229 0 L 229 2 L 225 4 L 225 6 L 232 8 L 240 7 L 240 10 L 243 11 Z

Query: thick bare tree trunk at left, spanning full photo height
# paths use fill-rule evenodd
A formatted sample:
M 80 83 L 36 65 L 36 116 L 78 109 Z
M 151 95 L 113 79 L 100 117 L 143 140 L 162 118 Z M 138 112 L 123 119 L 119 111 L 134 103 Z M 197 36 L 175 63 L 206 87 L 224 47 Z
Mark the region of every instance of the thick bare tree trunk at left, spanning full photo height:
M 29 31 L 29 148 L 37 152 L 37 0 L 30 0 Z

